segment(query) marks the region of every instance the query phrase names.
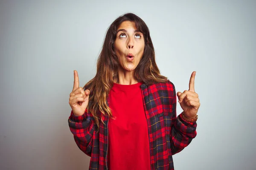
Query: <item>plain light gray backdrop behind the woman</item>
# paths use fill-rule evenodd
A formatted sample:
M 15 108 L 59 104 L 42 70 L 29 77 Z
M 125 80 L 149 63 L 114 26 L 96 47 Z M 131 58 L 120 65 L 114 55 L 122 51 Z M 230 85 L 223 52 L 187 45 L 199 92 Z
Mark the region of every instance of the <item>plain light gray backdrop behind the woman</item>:
M 148 25 L 176 91 L 197 71 L 198 135 L 175 170 L 256 169 L 255 0 L 1 0 L 0 169 L 88 169 L 67 122 L 73 70 L 82 87 L 95 76 L 107 28 L 126 12 Z

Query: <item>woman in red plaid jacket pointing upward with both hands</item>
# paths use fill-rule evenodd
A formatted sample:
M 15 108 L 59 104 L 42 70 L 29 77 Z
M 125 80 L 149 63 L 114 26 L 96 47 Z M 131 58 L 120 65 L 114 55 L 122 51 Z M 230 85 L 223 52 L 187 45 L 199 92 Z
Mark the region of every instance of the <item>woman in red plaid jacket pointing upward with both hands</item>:
M 160 75 L 143 20 L 128 13 L 108 28 L 96 76 L 83 88 L 74 71 L 69 127 L 92 170 L 173 170 L 172 155 L 196 136 L 194 90 L 178 92 Z

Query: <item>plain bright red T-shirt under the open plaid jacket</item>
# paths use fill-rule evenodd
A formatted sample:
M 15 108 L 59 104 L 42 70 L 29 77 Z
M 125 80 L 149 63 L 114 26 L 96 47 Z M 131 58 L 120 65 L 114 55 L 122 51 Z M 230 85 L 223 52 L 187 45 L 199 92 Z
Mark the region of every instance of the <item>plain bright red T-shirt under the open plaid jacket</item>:
M 114 83 L 111 88 L 109 107 L 116 120 L 108 122 L 110 170 L 150 170 L 148 124 L 140 85 Z

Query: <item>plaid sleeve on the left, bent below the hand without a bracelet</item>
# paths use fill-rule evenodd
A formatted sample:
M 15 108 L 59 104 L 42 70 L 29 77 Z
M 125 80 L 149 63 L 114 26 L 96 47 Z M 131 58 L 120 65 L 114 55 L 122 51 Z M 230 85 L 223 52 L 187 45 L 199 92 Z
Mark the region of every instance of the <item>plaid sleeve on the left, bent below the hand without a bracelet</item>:
M 86 155 L 91 156 L 94 121 L 91 113 L 87 113 L 87 109 L 81 116 L 75 116 L 71 111 L 68 124 L 71 133 L 74 135 L 75 142 L 79 149 Z

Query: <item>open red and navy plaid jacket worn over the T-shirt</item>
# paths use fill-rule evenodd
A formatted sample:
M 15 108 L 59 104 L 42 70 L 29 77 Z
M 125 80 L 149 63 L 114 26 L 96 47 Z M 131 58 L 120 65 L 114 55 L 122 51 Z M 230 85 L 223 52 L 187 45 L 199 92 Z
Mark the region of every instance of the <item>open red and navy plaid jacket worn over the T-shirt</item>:
M 172 155 L 180 152 L 196 136 L 196 122 L 176 116 L 176 91 L 169 80 L 150 86 L 141 85 L 143 104 L 148 122 L 151 170 L 174 170 Z M 108 101 L 108 99 L 107 99 Z M 80 150 L 90 156 L 89 170 L 108 170 L 108 116 L 103 116 L 99 133 L 94 119 L 85 111 L 68 119 L 69 127 Z M 136 139 L 134 139 L 136 140 Z

